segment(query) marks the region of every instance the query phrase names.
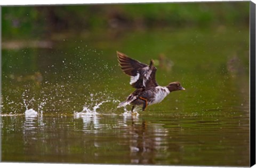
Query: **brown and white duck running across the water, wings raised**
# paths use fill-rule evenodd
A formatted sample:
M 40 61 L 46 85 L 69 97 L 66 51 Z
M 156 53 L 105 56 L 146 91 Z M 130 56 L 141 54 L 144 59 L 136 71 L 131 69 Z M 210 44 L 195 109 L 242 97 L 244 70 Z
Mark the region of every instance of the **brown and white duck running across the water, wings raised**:
M 171 82 L 167 86 L 158 85 L 154 60 L 151 59 L 147 65 L 122 52 L 116 51 L 116 54 L 118 65 L 124 74 L 130 76 L 130 85 L 136 89 L 117 108 L 132 105 L 133 113 L 135 106 L 142 106 L 142 111 L 145 111 L 149 105 L 161 102 L 171 92 L 186 90 L 180 82 Z

